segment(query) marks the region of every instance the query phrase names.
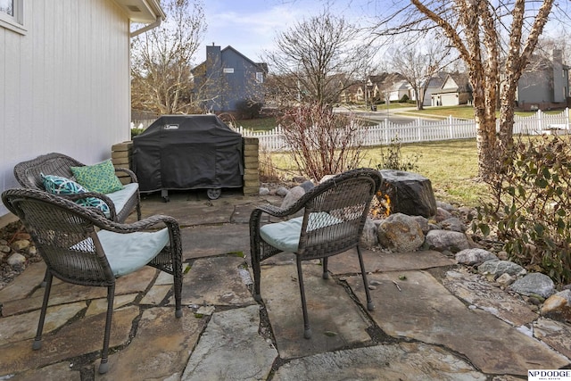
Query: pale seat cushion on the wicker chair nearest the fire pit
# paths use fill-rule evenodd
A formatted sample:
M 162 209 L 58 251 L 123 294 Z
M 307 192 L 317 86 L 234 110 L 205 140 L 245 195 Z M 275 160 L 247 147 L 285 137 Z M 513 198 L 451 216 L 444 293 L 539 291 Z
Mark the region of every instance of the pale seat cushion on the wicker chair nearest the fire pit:
M 264 225 L 260 228 L 260 236 L 268 244 L 282 252 L 296 253 L 302 234 L 302 222 L 303 217 L 297 217 L 283 222 Z M 343 223 L 343 219 L 337 219 L 325 211 L 310 213 L 307 231 L 327 228 L 340 223 Z

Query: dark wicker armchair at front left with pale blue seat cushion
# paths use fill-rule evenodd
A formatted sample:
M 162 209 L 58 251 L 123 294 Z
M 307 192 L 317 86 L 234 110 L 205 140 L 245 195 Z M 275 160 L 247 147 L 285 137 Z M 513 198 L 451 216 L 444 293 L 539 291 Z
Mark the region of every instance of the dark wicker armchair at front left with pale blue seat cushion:
M 35 189 L 6 190 L 2 201 L 21 219 L 46 262 L 46 291 L 33 349 L 41 347 L 53 277 L 80 286 L 107 287 L 107 315 L 99 366 L 102 374 L 109 369 L 116 278 L 145 265 L 172 274 L 175 316 L 182 316 L 182 248 L 175 219 L 157 215 L 121 224 L 105 218 L 103 212 L 94 208 Z M 150 228 L 153 230 L 148 230 Z

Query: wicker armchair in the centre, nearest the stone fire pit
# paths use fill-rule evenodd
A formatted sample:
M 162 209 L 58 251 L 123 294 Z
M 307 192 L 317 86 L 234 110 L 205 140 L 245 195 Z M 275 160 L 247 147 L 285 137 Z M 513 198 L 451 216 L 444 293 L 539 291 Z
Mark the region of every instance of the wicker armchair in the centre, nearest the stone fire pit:
M 323 278 L 327 279 L 327 257 L 356 247 L 367 294 L 367 308 L 369 311 L 374 309 L 359 241 L 370 202 L 380 182 L 378 170 L 349 170 L 314 187 L 285 210 L 263 205 L 252 211 L 250 244 L 254 276 L 253 296 L 256 301 L 261 300 L 261 261 L 277 253 L 295 253 L 305 338 L 311 337 L 311 330 L 303 286 L 302 261 L 319 258 L 323 265 Z M 261 226 L 264 215 L 290 218 L 299 211 L 302 211 L 302 217 Z

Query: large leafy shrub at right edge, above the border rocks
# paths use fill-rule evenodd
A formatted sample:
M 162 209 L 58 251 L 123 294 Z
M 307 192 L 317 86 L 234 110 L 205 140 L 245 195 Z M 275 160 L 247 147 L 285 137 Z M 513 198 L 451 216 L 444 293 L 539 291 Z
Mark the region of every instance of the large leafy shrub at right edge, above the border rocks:
M 509 258 L 526 269 L 571 282 L 569 137 L 520 138 L 495 172 L 494 201 L 478 208 L 473 230 L 496 234 Z

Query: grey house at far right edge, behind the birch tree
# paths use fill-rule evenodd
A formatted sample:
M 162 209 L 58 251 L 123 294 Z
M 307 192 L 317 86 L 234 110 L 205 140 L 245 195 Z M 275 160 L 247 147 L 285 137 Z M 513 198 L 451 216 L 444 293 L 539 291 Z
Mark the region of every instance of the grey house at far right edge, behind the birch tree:
M 550 58 L 534 56 L 517 82 L 517 106 L 522 110 L 567 107 L 569 67 L 560 50 Z

